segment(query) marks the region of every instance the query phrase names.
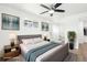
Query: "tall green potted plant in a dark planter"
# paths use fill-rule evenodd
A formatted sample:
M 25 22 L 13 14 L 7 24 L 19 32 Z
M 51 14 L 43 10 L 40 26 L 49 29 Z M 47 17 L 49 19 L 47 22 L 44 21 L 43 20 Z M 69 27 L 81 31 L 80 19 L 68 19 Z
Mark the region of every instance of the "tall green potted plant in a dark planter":
M 70 50 L 74 48 L 75 40 L 76 40 L 76 33 L 74 31 L 69 31 L 68 32 L 68 41 L 69 41 L 69 48 Z

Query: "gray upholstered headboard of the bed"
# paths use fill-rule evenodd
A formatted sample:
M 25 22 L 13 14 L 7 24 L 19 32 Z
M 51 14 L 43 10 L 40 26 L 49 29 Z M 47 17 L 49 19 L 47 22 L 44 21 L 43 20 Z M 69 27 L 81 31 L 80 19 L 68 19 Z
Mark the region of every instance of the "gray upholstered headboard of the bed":
M 42 37 L 42 35 L 41 34 L 18 35 L 18 41 L 19 41 L 19 43 L 22 43 L 22 40 L 24 40 L 24 39 L 36 39 L 36 37 Z

